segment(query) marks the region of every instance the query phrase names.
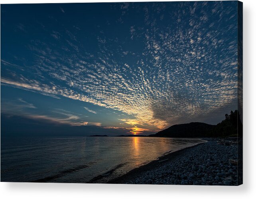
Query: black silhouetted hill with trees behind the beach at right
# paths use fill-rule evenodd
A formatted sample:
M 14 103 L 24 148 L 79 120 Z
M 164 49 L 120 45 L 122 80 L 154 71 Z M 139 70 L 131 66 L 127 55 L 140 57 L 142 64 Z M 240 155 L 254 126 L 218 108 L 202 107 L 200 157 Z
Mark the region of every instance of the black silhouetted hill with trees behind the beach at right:
M 225 119 L 217 125 L 202 122 L 191 122 L 189 124 L 175 124 L 167 129 L 159 131 L 150 137 L 236 137 L 238 111 L 226 114 Z

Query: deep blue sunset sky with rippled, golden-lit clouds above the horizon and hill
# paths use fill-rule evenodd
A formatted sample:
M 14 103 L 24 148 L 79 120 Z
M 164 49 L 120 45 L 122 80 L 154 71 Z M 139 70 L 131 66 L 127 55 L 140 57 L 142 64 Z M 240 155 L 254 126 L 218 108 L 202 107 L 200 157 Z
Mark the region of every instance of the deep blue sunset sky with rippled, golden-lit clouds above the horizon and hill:
M 1 5 L 1 135 L 148 135 L 235 109 L 236 1 Z

